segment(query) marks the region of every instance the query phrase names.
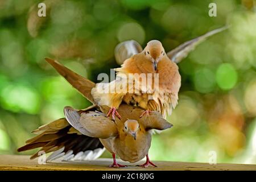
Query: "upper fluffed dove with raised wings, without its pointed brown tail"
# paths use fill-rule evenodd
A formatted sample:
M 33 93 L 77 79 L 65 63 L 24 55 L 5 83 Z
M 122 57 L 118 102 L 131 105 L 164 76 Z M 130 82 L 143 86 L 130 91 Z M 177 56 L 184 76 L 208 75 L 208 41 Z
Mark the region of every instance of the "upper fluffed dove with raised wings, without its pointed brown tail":
M 218 28 L 185 42 L 167 54 L 158 40 L 148 42 L 143 51 L 141 46 L 133 40 L 119 44 L 115 48 L 115 58 L 118 63 L 123 64 L 121 68 L 115 69 L 117 76 L 114 81 L 96 84 L 96 88 L 92 89 L 94 100 L 100 105 L 111 107 L 108 115 L 112 114 L 113 118 L 114 115 L 120 117 L 116 109 L 122 101 L 145 109 L 141 116 L 156 110 L 166 117 L 177 105 L 181 85 L 176 63 L 184 59 L 197 44 L 226 28 Z M 144 81 L 142 73 L 146 74 Z M 147 76 L 151 76 L 150 79 Z M 130 77 L 132 81 L 127 79 Z M 158 85 L 155 84 L 155 80 L 158 80 Z M 134 86 L 136 84 L 137 87 Z

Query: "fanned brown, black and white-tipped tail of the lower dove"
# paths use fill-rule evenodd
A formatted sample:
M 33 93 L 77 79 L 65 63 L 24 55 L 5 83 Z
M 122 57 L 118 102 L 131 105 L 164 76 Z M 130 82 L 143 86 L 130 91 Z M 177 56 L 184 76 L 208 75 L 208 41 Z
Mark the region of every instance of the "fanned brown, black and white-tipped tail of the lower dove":
M 105 150 L 98 138 L 82 135 L 69 125 L 65 118 L 41 126 L 32 133 L 37 136 L 28 139 L 26 145 L 18 148 L 21 152 L 42 147 L 30 159 L 37 158 L 40 156 L 39 152 L 43 151 L 46 154 L 52 152 L 47 161 L 59 158 L 62 160 L 94 160 Z

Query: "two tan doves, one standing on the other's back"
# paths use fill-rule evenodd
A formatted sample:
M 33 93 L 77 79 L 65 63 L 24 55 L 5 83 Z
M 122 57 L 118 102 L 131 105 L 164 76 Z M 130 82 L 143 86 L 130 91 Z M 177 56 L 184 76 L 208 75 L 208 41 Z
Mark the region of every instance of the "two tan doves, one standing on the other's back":
M 181 78 L 176 63 L 205 38 L 225 29 L 210 31 L 168 53 L 158 40 L 151 40 L 143 50 L 137 42 L 123 42 L 115 48 L 115 58 L 119 63 L 123 63 L 122 67 L 115 69 L 117 78 L 106 84 L 94 84 L 57 61 L 46 59 L 93 105 L 82 110 L 65 107 L 65 118 L 57 119 L 33 131 L 38 136 L 27 140 L 27 144 L 18 151 L 42 147 L 40 151 L 53 152 L 48 160 L 60 157 L 63 160 L 88 160 L 98 158 L 105 147 L 113 156 L 113 164 L 110 167 L 125 167 L 117 163 L 116 154 L 131 163 L 146 156 L 146 163 L 142 166 L 155 166 L 148 157 L 151 131 L 172 127 L 164 118 L 166 114 L 171 113 L 178 100 Z M 134 82 L 141 84 L 136 93 L 101 92 L 102 88 L 111 87 L 112 84 L 115 84 L 115 89 L 122 89 L 122 85 L 128 83 L 123 83 L 121 75 L 130 73 L 158 73 L 159 89 L 151 87 L 151 92 L 148 93 L 147 89 L 144 89 L 146 86 L 133 77 Z M 134 90 L 134 83 L 131 85 Z M 148 97 L 149 95 L 151 97 Z M 31 159 L 36 158 L 38 154 L 39 151 L 32 155 Z

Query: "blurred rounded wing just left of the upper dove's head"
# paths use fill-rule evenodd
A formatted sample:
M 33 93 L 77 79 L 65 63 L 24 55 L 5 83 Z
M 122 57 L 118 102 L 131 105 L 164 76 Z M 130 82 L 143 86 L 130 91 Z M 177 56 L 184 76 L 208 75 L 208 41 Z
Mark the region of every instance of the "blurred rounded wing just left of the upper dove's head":
M 142 52 L 141 44 L 135 40 L 128 40 L 122 43 L 119 43 L 115 47 L 115 60 L 119 65 L 123 64 L 123 61 L 129 59 L 131 56 L 136 55 L 139 52 Z

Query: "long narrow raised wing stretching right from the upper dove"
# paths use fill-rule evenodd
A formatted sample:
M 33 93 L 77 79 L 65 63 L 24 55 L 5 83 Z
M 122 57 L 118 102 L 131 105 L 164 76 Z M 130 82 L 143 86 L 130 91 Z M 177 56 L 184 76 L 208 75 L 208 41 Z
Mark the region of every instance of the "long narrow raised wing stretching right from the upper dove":
M 210 31 L 207 34 L 201 35 L 198 38 L 189 40 L 180 46 L 176 47 L 172 51 L 167 53 L 167 56 L 174 61 L 175 63 L 179 63 L 182 59 L 188 56 L 188 53 L 193 51 L 193 49 L 207 39 L 209 36 L 217 34 L 218 32 L 226 30 L 228 27 L 218 28 L 216 30 Z

